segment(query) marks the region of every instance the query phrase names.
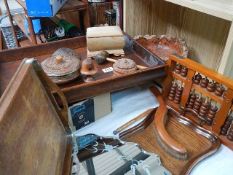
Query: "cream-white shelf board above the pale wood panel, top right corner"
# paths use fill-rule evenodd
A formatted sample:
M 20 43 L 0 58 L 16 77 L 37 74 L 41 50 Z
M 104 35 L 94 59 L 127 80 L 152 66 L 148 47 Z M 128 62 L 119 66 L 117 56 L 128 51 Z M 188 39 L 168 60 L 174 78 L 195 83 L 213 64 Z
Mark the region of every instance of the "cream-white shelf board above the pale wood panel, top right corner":
M 165 0 L 228 21 L 233 20 L 233 2 L 225 0 Z

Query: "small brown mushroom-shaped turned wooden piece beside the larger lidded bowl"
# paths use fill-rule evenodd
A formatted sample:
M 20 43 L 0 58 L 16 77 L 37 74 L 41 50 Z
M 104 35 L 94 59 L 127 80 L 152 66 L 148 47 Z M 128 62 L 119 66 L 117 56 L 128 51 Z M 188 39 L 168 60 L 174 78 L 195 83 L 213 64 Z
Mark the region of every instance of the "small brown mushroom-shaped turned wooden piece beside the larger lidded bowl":
M 80 72 L 82 75 L 85 76 L 85 82 L 94 81 L 93 75 L 97 73 L 97 68 L 94 61 L 91 58 L 86 58 L 85 60 L 83 60 Z

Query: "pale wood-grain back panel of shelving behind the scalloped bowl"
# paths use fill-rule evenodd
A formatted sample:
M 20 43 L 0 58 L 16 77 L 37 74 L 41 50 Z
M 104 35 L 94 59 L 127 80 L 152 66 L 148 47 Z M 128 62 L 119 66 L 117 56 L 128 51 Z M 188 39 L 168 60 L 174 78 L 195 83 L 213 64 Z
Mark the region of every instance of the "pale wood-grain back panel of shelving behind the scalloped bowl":
M 131 36 L 167 34 L 186 40 L 189 57 L 215 70 L 231 23 L 164 0 L 125 0 L 124 29 Z

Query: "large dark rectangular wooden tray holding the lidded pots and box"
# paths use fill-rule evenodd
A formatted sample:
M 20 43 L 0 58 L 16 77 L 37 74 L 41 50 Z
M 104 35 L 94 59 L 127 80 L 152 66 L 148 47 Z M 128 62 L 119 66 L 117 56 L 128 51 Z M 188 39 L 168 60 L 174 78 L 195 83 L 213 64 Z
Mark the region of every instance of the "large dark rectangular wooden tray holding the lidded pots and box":
M 148 68 L 127 75 L 115 75 L 113 72 L 103 73 L 102 71 L 104 68 L 112 67 L 113 63 L 98 65 L 98 73 L 94 77 L 95 81 L 84 83 L 81 78 L 77 78 L 70 83 L 59 86 L 69 104 L 101 93 L 143 84 L 165 76 L 165 64 L 162 60 L 143 48 L 129 36 L 125 35 L 125 39 L 127 43 L 124 48 L 126 53 L 125 57 L 131 58 L 137 64 L 147 66 Z M 0 52 L 0 94 L 4 92 L 22 59 L 33 57 L 41 62 L 51 56 L 55 50 L 62 47 L 74 49 L 80 54 L 82 60 L 86 58 L 87 49 L 85 37 Z M 111 82 L 111 86 L 109 86 L 109 82 Z

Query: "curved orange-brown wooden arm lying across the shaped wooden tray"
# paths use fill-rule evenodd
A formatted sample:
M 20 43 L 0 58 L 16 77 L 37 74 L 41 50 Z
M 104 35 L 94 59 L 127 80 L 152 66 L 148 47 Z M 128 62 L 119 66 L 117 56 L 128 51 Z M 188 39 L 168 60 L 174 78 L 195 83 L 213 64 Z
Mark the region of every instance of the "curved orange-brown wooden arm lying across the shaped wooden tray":
M 161 93 L 155 87 L 150 88 L 150 90 L 160 104 L 154 115 L 155 130 L 159 144 L 172 156 L 178 159 L 187 159 L 188 151 L 186 148 L 173 139 L 165 128 L 168 109 Z

